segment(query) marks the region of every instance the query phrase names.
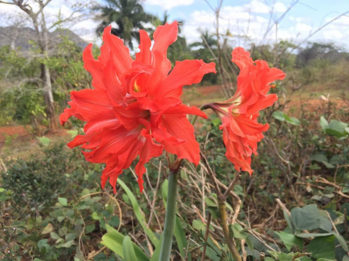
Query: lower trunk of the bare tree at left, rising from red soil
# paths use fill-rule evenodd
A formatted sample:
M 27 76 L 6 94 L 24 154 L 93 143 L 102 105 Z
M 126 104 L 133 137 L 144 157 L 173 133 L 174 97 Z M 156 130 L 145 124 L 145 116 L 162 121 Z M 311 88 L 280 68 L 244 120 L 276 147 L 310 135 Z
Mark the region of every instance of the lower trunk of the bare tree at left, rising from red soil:
M 52 86 L 51 86 L 51 77 L 49 68 L 45 64 L 41 64 L 41 79 L 43 81 L 43 92 L 44 92 L 44 101 L 46 104 L 46 114 L 49 119 L 49 128 L 50 130 L 57 130 L 57 121 L 55 117 L 55 108 L 52 95 Z

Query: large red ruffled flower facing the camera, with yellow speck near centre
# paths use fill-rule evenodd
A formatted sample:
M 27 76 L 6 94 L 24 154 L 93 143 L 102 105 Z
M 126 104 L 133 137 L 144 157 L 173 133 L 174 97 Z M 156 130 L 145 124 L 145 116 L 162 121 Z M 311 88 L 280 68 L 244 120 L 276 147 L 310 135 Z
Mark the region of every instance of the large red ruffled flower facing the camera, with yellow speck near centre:
M 194 128 L 186 118 L 195 114 L 206 118 L 196 107 L 179 99 L 184 85 L 201 81 L 204 74 L 215 72 L 214 63 L 202 60 L 171 62 L 166 57 L 170 44 L 177 40 L 178 23 L 158 26 L 154 45 L 146 31 L 140 30 L 140 52 L 135 60 L 123 41 L 104 29 L 101 55 L 92 56 L 92 44 L 83 52 L 84 68 L 92 74 L 94 89 L 72 91 L 70 108 L 60 115 L 64 124 L 70 116 L 87 121 L 85 135 L 68 143 L 82 145 L 86 160 L 106 163 L 102 187 L 109 179 L 116 193 L 118 175 L 139 156 L 135 171 L 143 190 L 144 164 L 162 154 L 163 149 L 194 164 L 200 160 Z

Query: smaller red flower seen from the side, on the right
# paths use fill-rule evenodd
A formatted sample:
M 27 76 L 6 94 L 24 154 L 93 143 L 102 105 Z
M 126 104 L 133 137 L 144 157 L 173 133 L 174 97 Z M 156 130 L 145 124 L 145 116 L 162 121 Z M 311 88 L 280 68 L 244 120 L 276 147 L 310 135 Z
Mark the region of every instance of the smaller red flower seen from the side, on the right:
M 221 118 L 223 142 L 227 149 L 225 156 L 240 168 L 252 174 L 251 155 L 257 155 L 257 142 L 264 137 L 262 132 L 268 124 L 257 122 L 259 111 L 277 100 L 276 94 L 268 94 L 270 83 L 285 78 L 285 73 L 269 68 L 266 61 L 253 61 L 250 53 L 237 47 L 232 52 L 232 62 L 239 68 L 237 90 L 233 97 L 223 102 L 207 104 Z

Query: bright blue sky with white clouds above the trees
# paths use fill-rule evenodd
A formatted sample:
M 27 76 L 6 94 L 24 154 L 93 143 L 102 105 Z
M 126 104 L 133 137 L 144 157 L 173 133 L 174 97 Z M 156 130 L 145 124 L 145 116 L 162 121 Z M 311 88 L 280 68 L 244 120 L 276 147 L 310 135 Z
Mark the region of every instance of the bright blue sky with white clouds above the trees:
M 262 40 L 268 26 L 269 11 L 273 8 L 272 24 L 274 24 L 274 20 L 279 19 L 294 1 L 224 0 L 221 8 L 220 30 L 221 32 L 229 30 L 233 35 L 229 37 L 229 43 L 232 46 L 247 47 L 252 42 L 255 44 L 273 43 L 276 37 L 277 40 L 287 39 L 299 43 L 319 26 L 349 11 L 349 0 L 300 0 L 278 24 L 277 35 L 274 25 Z M 217 0 L 208 0 L 208 2 L 214 8 L 217 5 Z M 53 17 L 60 9 L 63 16 L 68 16 L 72 3 L 76 1 L 53 0 L 46 7 L 46 11 Z M 200 40 L 199 28 L 201 31 L 206 29 L 212 33 L 214 31 L 214 12 L 204 0 L 142 0 L 142 3 L 144 9 L 149 13 L 163 17 L 167 10 L 170 21 L 183 20 L 182 34 L 185 35 L 188 42 Z M 0 10 L 13 13 L 16 7 L 0 4 Z M 98 22 L 94 21 L 91 15 L 82 22 L 67 26 L 84 40 L 99 42 L 95 34 L 97 24 Z M 349 13 L 326 26 L 309 40 L 334 42 L 336 45 L 349 49 Z

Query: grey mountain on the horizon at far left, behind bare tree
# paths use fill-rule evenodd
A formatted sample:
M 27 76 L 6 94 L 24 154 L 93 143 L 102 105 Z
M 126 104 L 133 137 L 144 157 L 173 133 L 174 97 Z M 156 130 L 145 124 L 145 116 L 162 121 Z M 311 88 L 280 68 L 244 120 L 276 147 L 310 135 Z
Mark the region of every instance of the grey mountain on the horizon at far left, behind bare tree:
M 61 41 L 62 35 L 66 36 L 70 41 L 74 42 L 82 49 L 88 45 L 88 43 L 82 40 L 79 35 L 73 33 L 69 29 L 56 29 L 53 32 L 49 32 L 51 50 Z M 36 32 L 34 29 L 29 27 L 0 27 L 0 47 L 10 45 L 13 49 L 20 47 L 23 52 L 28 52 L 30 48 L 32 48 L 29 41 L 35 40 L 36 38 Z

